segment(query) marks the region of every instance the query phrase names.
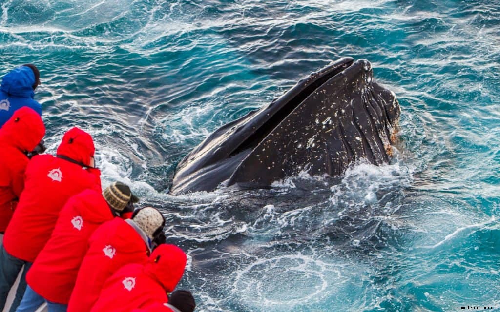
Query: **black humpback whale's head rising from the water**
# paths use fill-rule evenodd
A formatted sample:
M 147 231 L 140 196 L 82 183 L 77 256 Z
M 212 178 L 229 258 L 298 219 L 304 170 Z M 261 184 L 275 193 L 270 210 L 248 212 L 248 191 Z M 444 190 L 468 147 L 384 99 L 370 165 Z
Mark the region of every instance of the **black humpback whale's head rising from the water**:
M 362 158 L 387 162 L 399 114 L 367 60 L 340 58 L 215 130 L 177 165 L 170 194 L 213 191 L 222 182 L 265 188 L 302 170 L 335 176 Z

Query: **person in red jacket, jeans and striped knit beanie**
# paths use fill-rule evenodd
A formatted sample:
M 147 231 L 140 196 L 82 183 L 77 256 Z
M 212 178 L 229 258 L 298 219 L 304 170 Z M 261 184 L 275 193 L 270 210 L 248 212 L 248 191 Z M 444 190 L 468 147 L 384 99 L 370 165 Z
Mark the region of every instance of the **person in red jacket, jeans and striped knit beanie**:
M 45 301 L 48 312 L 66 311 L 88 238 L 102 223 L 131 212 L 137 201 L 121 182 L 111 183 L 102 193 L 87 189 L 71 197 L 26 275 L 28 286 L 17 312 L 34 311 Z

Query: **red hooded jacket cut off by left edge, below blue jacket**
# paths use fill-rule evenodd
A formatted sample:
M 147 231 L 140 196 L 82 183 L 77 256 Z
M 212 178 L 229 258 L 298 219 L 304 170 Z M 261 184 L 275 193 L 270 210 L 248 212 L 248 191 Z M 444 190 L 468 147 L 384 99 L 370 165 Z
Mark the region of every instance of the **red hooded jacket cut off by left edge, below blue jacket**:
M 40 116 L 28 107 L 16 110 L 0 129 L 0 233 L 5 232 L 24 188 L 29 161 L 24 151 L 32 151 L 44 134 Z

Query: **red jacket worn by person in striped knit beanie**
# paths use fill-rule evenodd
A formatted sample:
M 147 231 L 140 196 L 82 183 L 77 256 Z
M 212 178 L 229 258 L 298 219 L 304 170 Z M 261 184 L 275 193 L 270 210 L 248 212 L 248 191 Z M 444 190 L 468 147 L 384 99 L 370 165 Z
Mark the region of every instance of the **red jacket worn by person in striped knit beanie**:
M 26 275 L 28 285 L 48 301 L 67 304 L 90 235 L 113 218 L 101 193 L 85 190 L 71 197 L 59 213 L 52 236 Z

